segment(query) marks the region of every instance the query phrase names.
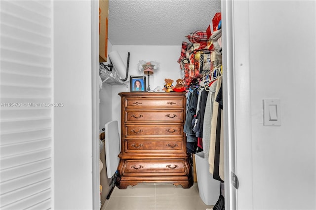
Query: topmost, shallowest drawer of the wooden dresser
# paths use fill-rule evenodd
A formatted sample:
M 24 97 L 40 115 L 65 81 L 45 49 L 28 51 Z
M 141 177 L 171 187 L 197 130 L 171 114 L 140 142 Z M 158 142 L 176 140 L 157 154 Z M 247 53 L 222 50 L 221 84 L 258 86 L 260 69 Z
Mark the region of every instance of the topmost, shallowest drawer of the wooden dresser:
M 183 98 L 125 98 L 125 108 L 183 108 Z

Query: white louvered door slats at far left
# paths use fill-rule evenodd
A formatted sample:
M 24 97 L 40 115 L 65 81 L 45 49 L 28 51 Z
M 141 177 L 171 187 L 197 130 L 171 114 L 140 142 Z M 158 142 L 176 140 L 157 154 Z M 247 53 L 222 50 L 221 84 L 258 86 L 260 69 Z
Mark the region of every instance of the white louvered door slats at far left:
M 51 209 L 52 1 L 0 1 L 0 209 Z

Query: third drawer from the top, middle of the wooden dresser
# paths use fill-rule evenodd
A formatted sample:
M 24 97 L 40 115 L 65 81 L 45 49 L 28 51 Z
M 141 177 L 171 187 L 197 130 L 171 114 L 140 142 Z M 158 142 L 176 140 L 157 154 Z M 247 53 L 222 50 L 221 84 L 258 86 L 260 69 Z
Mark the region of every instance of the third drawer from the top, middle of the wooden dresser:
M 125 138 L 184 137 L 182 125 L 126 125 Z

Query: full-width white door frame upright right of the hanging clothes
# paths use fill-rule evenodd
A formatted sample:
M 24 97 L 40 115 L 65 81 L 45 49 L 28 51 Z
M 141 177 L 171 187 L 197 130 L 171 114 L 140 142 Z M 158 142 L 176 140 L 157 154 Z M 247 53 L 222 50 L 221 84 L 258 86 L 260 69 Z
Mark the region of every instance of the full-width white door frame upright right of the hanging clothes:
M 249 1 L 222 1 L 222 26 L 225 208 L 253 209 Z

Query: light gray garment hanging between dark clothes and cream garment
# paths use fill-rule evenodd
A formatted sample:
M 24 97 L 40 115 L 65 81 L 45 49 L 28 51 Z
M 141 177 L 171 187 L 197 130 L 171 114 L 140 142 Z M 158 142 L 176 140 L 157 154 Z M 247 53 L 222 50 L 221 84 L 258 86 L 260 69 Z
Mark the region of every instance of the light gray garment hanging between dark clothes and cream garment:
M 209 87 L 207 101 L 205 105 L 204 119 L 203 119 L 203 152 L 204 152 L 204 157 L 207 160 L 208 160 L 208 154 L 209 154 L 209 142 L 211 140 L 211 122 L 212 122 L 213 104 L 215 101 L 216 86 L 217 86 L 217 80 L 214 81 Z

